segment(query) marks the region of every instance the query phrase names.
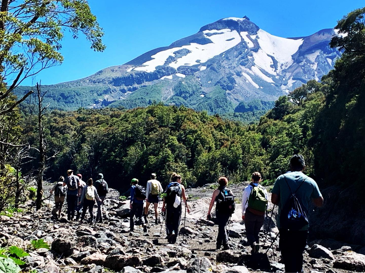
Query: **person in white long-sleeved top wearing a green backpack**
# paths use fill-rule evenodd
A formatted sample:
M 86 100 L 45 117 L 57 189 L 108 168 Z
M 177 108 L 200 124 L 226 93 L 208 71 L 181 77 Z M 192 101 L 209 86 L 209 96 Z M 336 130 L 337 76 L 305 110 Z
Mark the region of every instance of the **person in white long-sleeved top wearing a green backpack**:
M 250 185 L 242 193 L 242 220 L 245 221 L 247 242 L 251 246 L 251 254 L 258 253 L 259 233 L 265 220 L 268 208 L 268 191 L 260 185 L 261 174 L 254 172 Z

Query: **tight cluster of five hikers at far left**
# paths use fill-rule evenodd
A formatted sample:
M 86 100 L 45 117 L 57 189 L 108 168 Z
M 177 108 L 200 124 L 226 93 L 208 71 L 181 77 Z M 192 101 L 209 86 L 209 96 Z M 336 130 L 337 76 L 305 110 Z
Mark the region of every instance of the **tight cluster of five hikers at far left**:
M 67 204 L 67 219 L 73 221 L 76 213 L 75 220 L 84 221 L 86 211 L 89 210 L 91 221 L 101 223 L 103 221 L 103 202 L 108 193 L 108 183 L 104 180 L 102 173 L 97 175 L 97 181 L 93 182 L 92 178 L 88 179 L 85 183 L 82 181 L 82 175 L 73 174 L 73 170 L 67 171 L 66 179 L 61 176 L 58 182 L 50 190 L 52 194 L 54 192 L 55 209 L 52 214 L 59 218 L 61 217 L 61 211 L 63 203 L 66 199 Z M 94 219 L 94 205 L 97 202 L 97 214 Z M 80 218 L 81 216 L 81 218 Z

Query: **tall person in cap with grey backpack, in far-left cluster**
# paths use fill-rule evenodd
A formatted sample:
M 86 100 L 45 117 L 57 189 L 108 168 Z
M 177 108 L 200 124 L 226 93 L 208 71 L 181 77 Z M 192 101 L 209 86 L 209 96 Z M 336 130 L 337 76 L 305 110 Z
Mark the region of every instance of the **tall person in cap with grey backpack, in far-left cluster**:
M 67 219 L 73 221 L 78 197 L 80 197 L 80 179 L 73 174 L 73 170 L 68 170 L 67 175 Z

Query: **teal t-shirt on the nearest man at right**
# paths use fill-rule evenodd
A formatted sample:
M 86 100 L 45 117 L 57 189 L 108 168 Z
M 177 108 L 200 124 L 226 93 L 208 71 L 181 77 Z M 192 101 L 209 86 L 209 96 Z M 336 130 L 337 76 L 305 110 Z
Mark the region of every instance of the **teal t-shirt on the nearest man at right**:
M 284 175 L 291 190 L 288 188 L 287 182 L 285 182 Z M 303 185 L 300 186 L 303 180 L 304 183 Z M 297 190 L 299 186 L 300 188 Z M 296 190 L 297 192 L 295 193 Z M 300 202 L 300 205 L 307 216 L 308 216 L 309 203 L 311 202 L 311 200 L 313 198 L 319 198 L 322 196 L 322 194 L 319 191 L 317 183 L 312 178 L 308 177 L 302 172 L 291 171 L 286 174 L 280 175 L 276 179 L 274 187 L 271 191 L 272 193 L 277 194 L 279 196 L 279 206 L 278 206 L 279 217 L 277 219 L 278 228 L 280 228 L 279 218 L 281 209 L 283 209 L 285 203 L 289 199 L 291 191 L 295 193 L 296 198 Z M 301 230 L 307 230 L 308 228 L 309 225 L 306 225 Z

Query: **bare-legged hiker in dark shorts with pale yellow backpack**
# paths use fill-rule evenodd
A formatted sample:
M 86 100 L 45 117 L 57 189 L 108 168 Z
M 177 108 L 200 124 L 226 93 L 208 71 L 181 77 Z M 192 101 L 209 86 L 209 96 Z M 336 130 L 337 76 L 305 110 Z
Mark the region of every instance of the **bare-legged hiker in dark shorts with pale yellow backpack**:
M 156 180 L 156 174 L 151 174 L 151 180 L 147 181 L 146 188 L 145 223 L 148 223 L 148 208 L 151 203 L 153 203 L 155 209 L 155 223 L 156 225 L 161 223 L 158 217 L 158 203 L 160 202 L 160 193 L 163 191 L 160 181 Z

